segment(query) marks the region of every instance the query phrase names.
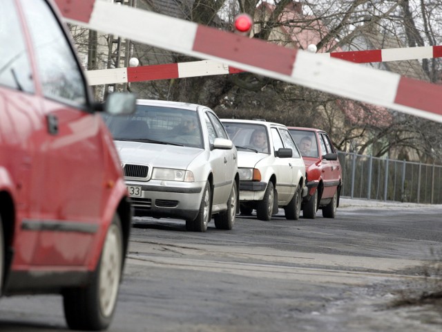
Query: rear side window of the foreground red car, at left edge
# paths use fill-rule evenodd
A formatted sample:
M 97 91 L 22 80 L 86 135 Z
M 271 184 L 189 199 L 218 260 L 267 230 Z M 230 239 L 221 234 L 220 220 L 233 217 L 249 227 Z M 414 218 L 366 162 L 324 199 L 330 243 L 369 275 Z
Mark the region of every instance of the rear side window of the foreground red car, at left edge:
M 23 32 L 13 0 L 2 0 L 0 10 L 0 84 L 35 91 Z

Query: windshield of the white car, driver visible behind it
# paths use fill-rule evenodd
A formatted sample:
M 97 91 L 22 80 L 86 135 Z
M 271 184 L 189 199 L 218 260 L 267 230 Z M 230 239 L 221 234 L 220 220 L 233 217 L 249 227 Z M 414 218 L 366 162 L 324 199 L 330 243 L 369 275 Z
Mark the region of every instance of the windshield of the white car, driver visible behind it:
M 237 149 L 269 154 L 267 127 L 261 124 L 222 122 Z

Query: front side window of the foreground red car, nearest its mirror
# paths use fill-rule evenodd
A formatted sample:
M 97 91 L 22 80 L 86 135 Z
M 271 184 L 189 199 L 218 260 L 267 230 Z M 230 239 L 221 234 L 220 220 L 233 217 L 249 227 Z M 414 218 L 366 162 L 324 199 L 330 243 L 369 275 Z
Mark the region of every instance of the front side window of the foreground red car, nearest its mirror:
M 81 69 L 52 10 L 46 1 L 21 2 L 37 57 L 43 94 L 69 104 L 86 104 L 86 84 Z

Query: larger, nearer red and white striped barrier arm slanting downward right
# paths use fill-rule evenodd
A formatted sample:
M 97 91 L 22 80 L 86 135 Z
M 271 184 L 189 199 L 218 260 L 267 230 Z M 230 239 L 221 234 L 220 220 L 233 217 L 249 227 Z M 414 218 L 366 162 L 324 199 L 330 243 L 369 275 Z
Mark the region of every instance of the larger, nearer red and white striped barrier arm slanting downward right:
M 103 0 L 55 0 L 73 24 L 442 122 L 442 86 Z

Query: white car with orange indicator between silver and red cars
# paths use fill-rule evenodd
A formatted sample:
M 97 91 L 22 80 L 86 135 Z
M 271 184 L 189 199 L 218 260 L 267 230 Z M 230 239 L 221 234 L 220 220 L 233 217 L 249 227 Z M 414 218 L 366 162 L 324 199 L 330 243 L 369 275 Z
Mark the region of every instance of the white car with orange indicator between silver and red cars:
M 283 124 L 262 120 L 222 119 L 238 149 L 240 211 L 256 210 L 260 220 L 271 220 L 278 208 L 287 219 L 299 219 L 305 163 Z

